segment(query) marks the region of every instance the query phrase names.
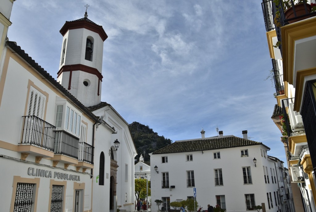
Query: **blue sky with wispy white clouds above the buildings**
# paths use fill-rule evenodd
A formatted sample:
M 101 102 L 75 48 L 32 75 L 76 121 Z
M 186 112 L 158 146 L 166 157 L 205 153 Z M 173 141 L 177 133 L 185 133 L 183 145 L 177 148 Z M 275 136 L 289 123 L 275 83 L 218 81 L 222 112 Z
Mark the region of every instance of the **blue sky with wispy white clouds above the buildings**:
M 128 122 L 172 141 L 224 135 L 271 148 L 284 161 L 271 120 L 275 88 L 260 1 L 15 1 L 8 38 L 57 79 L 65 21 L 103 26 L 101 101 Z

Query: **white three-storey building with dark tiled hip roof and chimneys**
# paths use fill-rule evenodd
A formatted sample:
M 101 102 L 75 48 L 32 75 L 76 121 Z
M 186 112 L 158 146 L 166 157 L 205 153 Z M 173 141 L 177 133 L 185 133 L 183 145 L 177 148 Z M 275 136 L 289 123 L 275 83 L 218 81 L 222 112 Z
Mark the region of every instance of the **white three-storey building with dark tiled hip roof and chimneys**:
M 293 203 L 284 202 L 285 192 L 291 196 L 284 181 L 287 170 L 282 161 L 267 156 L 269 147 L 248 140 L 247 131 L 243 138 L 222 131 L 204 138 L 201 133 L 202 138 L 176 141 L 150 154 L 152 200 L 162 200 L 167 210 L 170 202 L 193 198 L 196 188 L 203 209 L 218 204 L 227 211 L 247 211 L 264 203 L 266 211 L 285 212 L 287 203 L 294 212 Z M 158 210 L 154 203 L 151 208 Z

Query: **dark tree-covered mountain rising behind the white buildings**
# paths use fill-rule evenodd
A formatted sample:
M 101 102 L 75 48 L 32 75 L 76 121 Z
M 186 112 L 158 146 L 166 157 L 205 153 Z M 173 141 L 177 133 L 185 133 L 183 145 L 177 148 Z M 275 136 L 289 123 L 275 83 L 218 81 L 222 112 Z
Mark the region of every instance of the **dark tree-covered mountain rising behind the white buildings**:
M 140 154 L 143 154 L 144 161 L 150 161 L 149 153 L 172 143 L 172 140 L 164 136 L 159 136 L 158 133 L 154 132 L 148 125 L 145 126 L 134 121 L 128 128 L 130 129 L 131 137 L 137 149 L 138 155 L 135 157 L 137 160 L 139 160 Z

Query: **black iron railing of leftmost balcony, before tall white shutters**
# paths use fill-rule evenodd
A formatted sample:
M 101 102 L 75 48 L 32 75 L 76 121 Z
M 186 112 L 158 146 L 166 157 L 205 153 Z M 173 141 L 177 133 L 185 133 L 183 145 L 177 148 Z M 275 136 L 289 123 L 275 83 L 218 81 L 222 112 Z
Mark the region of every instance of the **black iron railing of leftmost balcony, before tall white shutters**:
M 32 144 L 54 151 L 55 126 L 37 116 L 23 116 L 21 144 Z

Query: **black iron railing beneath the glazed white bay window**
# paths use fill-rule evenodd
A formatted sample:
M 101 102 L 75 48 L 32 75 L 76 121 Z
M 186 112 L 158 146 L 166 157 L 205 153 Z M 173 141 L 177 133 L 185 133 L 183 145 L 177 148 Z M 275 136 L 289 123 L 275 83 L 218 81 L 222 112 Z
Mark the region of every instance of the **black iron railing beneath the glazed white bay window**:
M 55 154 L 67 155 L 78 159 L 79 138 L 65 131 L 55 132 Z

